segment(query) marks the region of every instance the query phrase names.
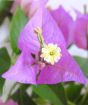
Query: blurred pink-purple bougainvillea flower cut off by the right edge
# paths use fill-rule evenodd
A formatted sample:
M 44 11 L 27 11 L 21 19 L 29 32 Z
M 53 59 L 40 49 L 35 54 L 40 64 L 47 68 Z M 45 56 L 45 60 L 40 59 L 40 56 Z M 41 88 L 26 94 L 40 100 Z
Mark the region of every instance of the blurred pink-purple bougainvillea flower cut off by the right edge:
M 88 49 L 88 15 L 78 15 L 70 27 L 70 35 L 79 48 Z

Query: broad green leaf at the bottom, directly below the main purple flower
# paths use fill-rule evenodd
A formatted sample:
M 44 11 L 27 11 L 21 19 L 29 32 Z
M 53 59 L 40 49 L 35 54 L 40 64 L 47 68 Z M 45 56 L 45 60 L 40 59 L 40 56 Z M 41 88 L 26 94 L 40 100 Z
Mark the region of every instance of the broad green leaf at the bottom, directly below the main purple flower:
M 41 98 L 49 100 L 53 105 L 64 105 L 64 103 L 65 103 L 65 105 L 67 105 L 65 101 L 64 102 L 62 101 L 62 100 L 64 100 L 63 98 L 65 98 L 65 94 L 63 94 L 63 98 L 61 96 L 61 94 L 64 93 L 62 85 L 33 86 L 33 91 L 37 95 L 39 95 Z

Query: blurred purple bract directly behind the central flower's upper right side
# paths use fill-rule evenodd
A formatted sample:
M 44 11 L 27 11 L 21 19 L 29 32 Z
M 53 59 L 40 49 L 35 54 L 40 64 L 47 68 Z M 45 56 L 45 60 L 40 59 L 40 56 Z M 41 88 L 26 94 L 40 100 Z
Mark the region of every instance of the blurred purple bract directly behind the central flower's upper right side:
M 56 10 L 51 11 L 51 15 L 56 20 L 58 26 L 60 27 L 61 31 L 63 32 L 64 38 L 66 40 L 67 46 L 70 44 L 70 37 L 69 31 L 71 23 L 73 22 L 72 17 L 69 15 L 67 11 L 64 10 L 62 6 L 60 6 Z

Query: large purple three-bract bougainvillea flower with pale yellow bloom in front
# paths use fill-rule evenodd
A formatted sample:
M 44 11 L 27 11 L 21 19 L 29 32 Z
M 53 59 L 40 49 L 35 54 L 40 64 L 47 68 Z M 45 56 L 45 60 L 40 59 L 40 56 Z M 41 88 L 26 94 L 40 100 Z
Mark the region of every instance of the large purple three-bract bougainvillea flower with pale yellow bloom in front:
M 3 74 L 4 78 L 26 84 L 66 81 L 85 84 L 85 76 L 66 50 L 60 29 L 45 8 L 39 8 L 24 27 L 18 46 L 21 54 L 16 64 Z

